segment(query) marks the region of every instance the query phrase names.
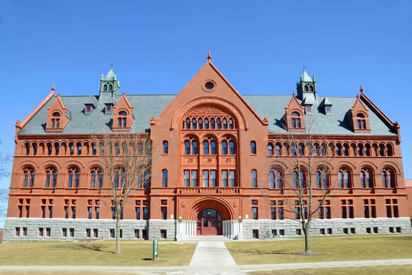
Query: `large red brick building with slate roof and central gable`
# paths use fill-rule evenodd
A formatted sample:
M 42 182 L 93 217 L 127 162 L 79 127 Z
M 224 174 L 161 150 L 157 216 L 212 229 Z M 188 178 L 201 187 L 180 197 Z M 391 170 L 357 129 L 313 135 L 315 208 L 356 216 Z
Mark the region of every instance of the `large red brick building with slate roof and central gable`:
M 324 125 L 319 135 L 328 142 L 319 148 L 332 156 L 327 180 L 339 182 L 312 234 L 411 232 L 400 126 L 363 89 L 356 97 L 327 98 L 316 83 L 304 69 L 296 96 L 242 96 L 208 57 L 177 95 L 119 95 L 113 69 L 102 75 L 98 96 L 56 96 L 53 87 L 16 123 L 4 240 L 114 236 L 98 190 L 108 181 L 91 144 L 104 127 L 150 135 L 162 148 L 152 155 L 151 175 L 142 171 L 144 184 L 126 201 L 123 239 L 299 235 L 293 214 L 282 213 L 281 194 L 289 192 L 282 177 L 290 175 L 268 164 L 286 168 L 282 157 L 296 154 L 284 142 L 282 121 L 299 135 L 308 120 Z M 310 150 L 299 147 L 299 154 Z

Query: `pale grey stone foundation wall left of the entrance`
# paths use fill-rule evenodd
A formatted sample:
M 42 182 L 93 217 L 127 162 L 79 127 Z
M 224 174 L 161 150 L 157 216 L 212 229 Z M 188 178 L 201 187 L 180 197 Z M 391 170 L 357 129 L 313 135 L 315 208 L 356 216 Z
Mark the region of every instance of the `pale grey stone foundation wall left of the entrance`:
M 115 229 L 113 219 L 36 219 L 36 218 L 6 218 L 4 223 L 3 241 L 73 241 L 84 239 L 86 229 L 98 229 L 97 239 L 113 239 L 110 230 Z M 16 236 L 16 228 L 20 228 Z M 27 236 L 23 236 L 23 228 L 27 228 Z M 39 228 L 43 229 L 43 236 L 39 236 Z M 50 228 L 50 236 L 46 236 L 46 228 Z M 62 236 L 62 228 L 67 228 L 67 237 Z M 69 236 L 70 228 L 74 229 L 74 236 Z M 174 220 L 122 220 L 120 222 L 122 239 L 143 239 L 143 230 L 147 230 L 148 238 L 161 237 L 161 230 L 166 230 L 166 239 L 176 236 L 176 221 Z M 135 237 L 138 230 L 139 238 Z

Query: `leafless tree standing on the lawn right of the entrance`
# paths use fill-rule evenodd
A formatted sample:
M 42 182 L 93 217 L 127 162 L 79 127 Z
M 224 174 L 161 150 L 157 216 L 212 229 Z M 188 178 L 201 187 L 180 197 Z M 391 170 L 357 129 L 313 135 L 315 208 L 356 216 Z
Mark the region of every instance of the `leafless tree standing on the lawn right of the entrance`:
M 306 127 L 297 132 L 284 123 L 286 133 L 276 136 L 273 155 L 269 158 L 269 184 L 279 189 L 282 197 L 282 212 L 273 205 L 268 190 L 262 188 L 266 202 L 279 215 L 289 213 L 291 219 L 301 223 L 305 236 L 305 252 L 299 254 L 317 254 L 310 250 L 310 225 L 314 218 L 325 218 L 326 198 L 334 189 L 329 160 L 333 148 L 328 148 L 328 140 L 321 135 L 317 121 L 306 118 Z M 271 172 L 272 171 L 272 172 Z M 321 217 L 323 215 L 323 217 Z M 320 217 L 319 217 L 320 216 Z

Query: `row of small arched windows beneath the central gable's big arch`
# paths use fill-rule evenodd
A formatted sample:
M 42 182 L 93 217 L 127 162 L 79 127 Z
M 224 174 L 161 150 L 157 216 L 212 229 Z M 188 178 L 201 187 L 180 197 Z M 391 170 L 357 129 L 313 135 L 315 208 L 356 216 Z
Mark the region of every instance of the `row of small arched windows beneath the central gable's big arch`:
M 192 115 L 183 120 L 182 129 L 236 130 L 237 125 L 230 115 Z

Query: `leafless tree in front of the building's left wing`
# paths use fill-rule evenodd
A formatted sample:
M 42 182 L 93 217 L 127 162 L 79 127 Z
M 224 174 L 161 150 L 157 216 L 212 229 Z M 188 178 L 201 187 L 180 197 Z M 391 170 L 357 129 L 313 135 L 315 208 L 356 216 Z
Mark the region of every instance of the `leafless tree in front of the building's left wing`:
M 92 184 L 116 219 L 116 254 L 120 254 L 120 220 L 124 203 L 136 188 L 149 188 L 152 142 L 148 134 L 103 133 L 92 137 L 93 153 L 104 171 L 92 173 Z M 102 173 L 102 174 L 100 174 Z M 104 183 L 102 184 L 102 177 Z

